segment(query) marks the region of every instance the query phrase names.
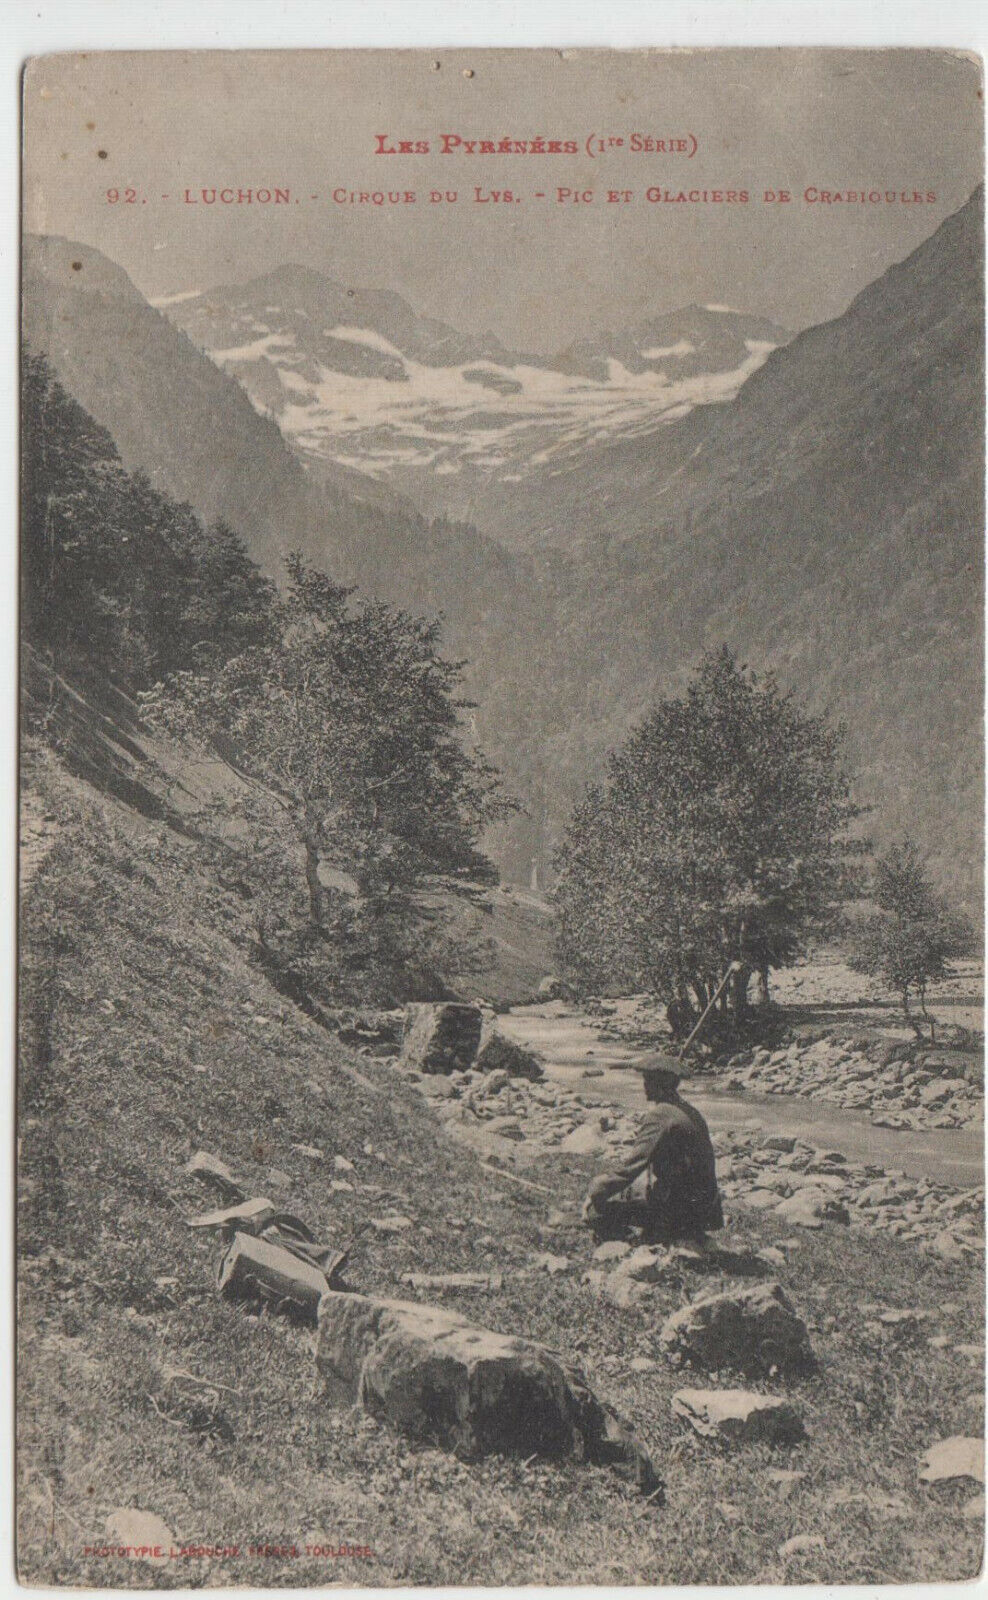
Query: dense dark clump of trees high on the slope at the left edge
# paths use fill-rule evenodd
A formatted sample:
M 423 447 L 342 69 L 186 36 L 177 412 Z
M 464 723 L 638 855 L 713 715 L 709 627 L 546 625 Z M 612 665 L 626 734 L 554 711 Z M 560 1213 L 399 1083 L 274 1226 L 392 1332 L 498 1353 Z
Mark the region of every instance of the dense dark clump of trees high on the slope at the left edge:
M 125 472 L 48 362 L 22 368 L 24 632 L 56 672 L 126 690 L 262 640 L 275 590 L 224 523 Z

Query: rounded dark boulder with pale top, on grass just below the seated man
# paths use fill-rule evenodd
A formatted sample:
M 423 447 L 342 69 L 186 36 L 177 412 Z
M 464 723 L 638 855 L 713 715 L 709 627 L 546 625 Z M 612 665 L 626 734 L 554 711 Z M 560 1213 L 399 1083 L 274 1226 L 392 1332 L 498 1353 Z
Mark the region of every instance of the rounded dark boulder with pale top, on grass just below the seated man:
M 659 1342 L 671 1362 L 707 1371 L 812 1371 L 806 1323 L 779 1283 L 751 1283 L 705 1294 L 662 1325 Z

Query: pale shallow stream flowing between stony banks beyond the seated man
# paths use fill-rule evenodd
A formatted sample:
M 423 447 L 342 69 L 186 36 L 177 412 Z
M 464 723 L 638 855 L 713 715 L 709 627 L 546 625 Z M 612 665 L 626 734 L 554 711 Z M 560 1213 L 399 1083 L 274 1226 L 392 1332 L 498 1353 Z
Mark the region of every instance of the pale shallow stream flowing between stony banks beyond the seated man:
M 548 1077 L 579 1088 L 588 1104 L 641 1110 L 641 1078 L 628 1070 L 635 1051 L 604 1038 L 593 1018 L 561 1011 L 558 1005 L 518 1006 L 500 1018 L 505 1034 L 536 1050 Z M 587 1069 L 603 1077 L 585 1077 Z M 703 1112 L 710 1128 L 756 1128 L 793 1133 L 812 1144 L 841 1150 L 852 1162 L 871 1162 L 887 1171 L 935 1182 L 975 1186 L 983 1181 L 983 1139 L 970 1128 L 913 1131 L 878 1128 L 854 1112 L 796 1094 L 721 1094 L 694 1078 L 687 1099 Z

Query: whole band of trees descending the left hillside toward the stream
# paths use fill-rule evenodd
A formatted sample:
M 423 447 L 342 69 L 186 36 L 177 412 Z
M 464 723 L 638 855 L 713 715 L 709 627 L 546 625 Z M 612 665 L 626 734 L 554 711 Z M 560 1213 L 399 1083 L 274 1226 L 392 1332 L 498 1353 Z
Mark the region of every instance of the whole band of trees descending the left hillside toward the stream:
M 224 523 L 128 474 L 30 352 L 24 440 L 26 734 L 193 840 L 296 1002 L 467 978 L 486 950 L 462 906 L 486 906 L 483 834 L 513 802 L 438 624 L 299 555 L 278 589 Z

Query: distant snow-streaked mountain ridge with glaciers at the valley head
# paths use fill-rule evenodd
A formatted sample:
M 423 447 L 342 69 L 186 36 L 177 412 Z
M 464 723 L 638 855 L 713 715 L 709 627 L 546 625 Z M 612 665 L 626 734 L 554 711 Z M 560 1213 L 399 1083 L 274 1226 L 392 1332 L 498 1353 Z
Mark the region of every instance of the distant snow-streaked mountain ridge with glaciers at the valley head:
M 169 298 L 165 310 L 278 421 L 313 477 L 365 474 L 425 515 L 484 531 L 502 491 L 598 437 L 731 398 L 790 338 L 766 318 L 689 306 L 531 355 L 297 266 Z M 504 522 L 497 531 L 531 547 Z

